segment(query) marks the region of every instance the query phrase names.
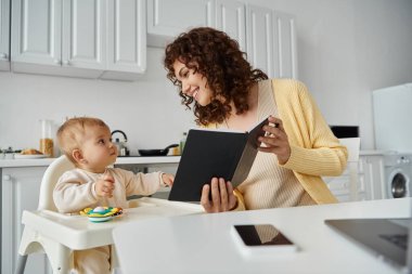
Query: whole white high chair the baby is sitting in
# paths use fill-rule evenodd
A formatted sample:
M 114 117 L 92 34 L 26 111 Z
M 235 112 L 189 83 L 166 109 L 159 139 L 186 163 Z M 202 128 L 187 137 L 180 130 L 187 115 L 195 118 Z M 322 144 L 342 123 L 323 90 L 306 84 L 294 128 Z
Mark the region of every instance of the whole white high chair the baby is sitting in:
M 125 214 L 113 222 L 91 224 L 87 218 L 56 212 L 52 198 L 54 186 L 64 171 L 74 165 L 65 157 L 55 159 L 41 181 L 38 210 L 25 210 L 22 216 L 24 231 L 18 248 L 15 273 L 23 273 L 27 256 L 46 253 L 53 273 L 69 273 L 73 269 L 73 250 L 111 246 L 112 273 L 119 268 L 112 231 L 121 223 L 158 217 L 203 213 L 201 205 L 170 201 L 150 197 L 130 199 Z

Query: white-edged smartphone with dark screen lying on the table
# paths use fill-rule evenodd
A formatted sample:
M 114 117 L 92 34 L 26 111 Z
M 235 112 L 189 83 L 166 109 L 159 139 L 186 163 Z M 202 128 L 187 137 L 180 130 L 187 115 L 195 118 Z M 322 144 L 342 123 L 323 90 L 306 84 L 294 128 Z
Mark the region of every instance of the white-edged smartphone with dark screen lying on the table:
M 232 232 L 237 246 L 246 255 L 275 256 L 298 249 L 272 224 L 235 224 Z

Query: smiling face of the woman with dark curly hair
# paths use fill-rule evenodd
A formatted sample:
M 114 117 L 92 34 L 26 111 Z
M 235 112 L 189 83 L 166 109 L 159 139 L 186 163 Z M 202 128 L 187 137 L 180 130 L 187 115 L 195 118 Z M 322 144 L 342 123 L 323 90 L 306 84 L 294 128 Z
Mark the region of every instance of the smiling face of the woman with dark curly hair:
M 176 79 L 181 83 L 183 94 L 193 97 L 202 106 L 210 104 L 214 92 L 208 88 L 206 77 L 196 73 L 195 69 L 186 67 L 179 60 L 175 61 L 173 69 Z

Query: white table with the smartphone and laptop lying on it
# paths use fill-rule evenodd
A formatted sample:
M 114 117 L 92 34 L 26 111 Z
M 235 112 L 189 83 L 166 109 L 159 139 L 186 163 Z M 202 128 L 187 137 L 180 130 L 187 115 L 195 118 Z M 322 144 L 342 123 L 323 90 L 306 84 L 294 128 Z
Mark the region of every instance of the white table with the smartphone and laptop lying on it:
M 325 219 L 410 218 L 412 198 L 183 216 L 117 226 L 123 274 L 138 273 L 399 273 L 324 224 Z M 233 224 L 272 223 L 300 250 L 247 258 Z M 139 232 L 139 233 L 137 233 Z

